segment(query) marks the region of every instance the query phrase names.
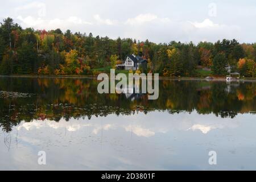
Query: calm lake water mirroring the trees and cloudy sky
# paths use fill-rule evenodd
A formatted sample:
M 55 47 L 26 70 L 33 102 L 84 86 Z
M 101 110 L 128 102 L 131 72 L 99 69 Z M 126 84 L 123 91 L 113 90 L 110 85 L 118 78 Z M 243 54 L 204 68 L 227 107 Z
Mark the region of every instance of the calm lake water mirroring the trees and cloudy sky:
M 0 78 L 0 169 L 256 169 L 256 82 L 162 80 L 155 101 L 97 84 Z

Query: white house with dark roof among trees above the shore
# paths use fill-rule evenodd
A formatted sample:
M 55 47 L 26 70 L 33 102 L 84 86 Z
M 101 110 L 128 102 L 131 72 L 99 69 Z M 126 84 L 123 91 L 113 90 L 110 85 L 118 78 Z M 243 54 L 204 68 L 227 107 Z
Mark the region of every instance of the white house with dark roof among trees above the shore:
M 125 63 L 117 65 L 117 68 L 125 70 L 138 70 L 139 67 L 147 68 L 147 60 L 135 55 L 127 56 Z

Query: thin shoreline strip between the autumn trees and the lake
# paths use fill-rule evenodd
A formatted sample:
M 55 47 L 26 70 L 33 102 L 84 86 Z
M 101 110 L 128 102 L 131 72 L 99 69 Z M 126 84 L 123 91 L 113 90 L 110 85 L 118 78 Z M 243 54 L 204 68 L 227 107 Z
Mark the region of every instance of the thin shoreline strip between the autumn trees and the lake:
M 82 76 L 82 75 L 0 75 L 0 77 L 13 77 L 13 78 L 89 78 L 94 79 L 97 76 Z M 205 81 L 226 81 L 225 77 L 218 77 L 213 79 L 200 78 L 200 77 L 160 77 L 159 80 L 205 80 Z M 251 81 L 256 82 L 256 78 L 240 78 L 240 80 L 235 81 Z

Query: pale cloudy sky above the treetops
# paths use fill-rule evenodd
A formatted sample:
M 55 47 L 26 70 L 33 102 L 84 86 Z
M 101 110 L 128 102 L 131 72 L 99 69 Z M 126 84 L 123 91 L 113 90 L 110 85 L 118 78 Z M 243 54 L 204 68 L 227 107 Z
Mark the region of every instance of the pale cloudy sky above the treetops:
M 23 28 L 69 29 L 113 39 L 256 42 L 254 0 L 1 1 L 0 19 L 7 17 Z

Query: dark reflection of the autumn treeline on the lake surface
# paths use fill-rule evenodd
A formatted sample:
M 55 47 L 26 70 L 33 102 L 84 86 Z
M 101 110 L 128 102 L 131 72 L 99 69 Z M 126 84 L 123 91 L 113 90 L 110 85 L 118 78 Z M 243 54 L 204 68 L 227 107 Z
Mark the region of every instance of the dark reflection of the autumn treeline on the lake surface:
M 98 82 L 72 78 L 0 78 L 0 125 L 5 131 L 21 121 L 60 121 L 93 115 L 131 115 L 137 112 L 196 110 L 234 118 L 256 111 L 255 82 L 160 80 L 158 100 L 146 94 L 98 94 Z

